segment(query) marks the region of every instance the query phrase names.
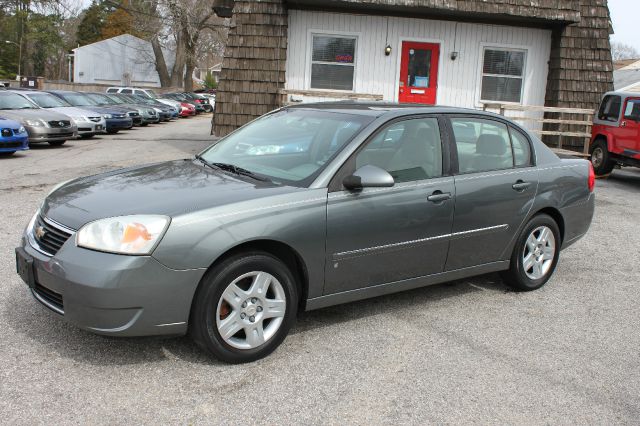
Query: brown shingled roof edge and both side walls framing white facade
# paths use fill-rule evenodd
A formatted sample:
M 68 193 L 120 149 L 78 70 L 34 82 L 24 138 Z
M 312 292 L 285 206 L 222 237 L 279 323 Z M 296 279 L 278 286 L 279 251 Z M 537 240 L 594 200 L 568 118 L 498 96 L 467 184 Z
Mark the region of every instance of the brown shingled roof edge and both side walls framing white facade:
M 554 28 L 546 106 L 596 108 L 613 88 L 606 0 L 236 0 L 216 98 L 213 132 L 223 136 L 279 106 L 287 8 L 366 8 Z M 395 12 L 394 12 L 395 11 Z M 359 12 L 362 13 L 362 12 Z M 549 128 L 551 129 L 551 128 Z

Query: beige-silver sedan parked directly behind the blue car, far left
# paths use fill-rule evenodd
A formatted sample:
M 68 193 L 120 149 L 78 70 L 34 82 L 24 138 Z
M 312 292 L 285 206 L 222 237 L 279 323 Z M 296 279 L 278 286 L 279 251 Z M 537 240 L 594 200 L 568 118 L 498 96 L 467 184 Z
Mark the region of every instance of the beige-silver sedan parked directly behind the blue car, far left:
M 16 93 L 0 92 L 0 110 L 3 116 L 22 123 L 30 144 L 48 142 L 59 146 L 78 136 L 78 127 L 71 117 L 40 108 Z

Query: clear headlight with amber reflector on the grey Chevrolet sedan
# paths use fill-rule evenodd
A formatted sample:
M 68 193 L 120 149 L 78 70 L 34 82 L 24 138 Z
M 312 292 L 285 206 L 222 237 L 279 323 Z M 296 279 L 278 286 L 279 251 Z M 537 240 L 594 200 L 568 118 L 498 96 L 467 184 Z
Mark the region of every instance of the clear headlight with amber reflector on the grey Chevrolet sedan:
M 111 217 L 80 228 L 76 244 L 92 250 L 119 254 L 151 254 L 169 226 L 167 216 Z

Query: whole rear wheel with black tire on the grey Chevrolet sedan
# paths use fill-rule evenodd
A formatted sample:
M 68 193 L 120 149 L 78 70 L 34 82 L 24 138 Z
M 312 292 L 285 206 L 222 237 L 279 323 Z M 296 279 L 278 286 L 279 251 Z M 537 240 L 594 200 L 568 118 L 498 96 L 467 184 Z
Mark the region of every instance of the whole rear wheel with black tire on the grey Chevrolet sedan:
M 545 285 L 558 264 L 561 243 L 556 221 L 546 214 L 534 216 L 518 236 L 509 269 L 501 273 L 505 284 L 517 291 Z

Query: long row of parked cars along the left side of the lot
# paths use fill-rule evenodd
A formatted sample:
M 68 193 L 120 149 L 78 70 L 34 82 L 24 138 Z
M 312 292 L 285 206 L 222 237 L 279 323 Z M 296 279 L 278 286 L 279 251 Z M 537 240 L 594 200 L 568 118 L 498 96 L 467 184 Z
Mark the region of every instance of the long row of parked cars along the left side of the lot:
M 70 139 L 114 134 L 212 111 L 209 98 L 195 93 L 160 97 L 138 88 L 111 87 L 106 93 L 2 89 L 0 155 L 27 150 L 33 143 L 59 146 Z

